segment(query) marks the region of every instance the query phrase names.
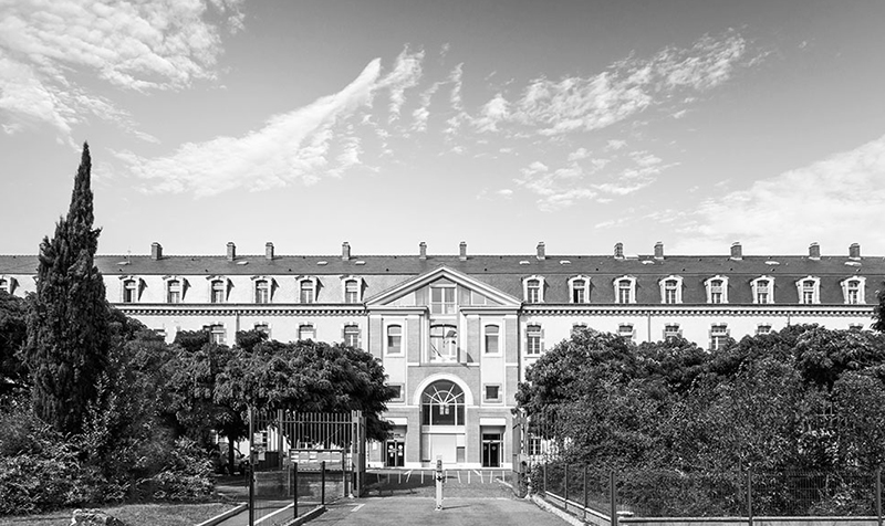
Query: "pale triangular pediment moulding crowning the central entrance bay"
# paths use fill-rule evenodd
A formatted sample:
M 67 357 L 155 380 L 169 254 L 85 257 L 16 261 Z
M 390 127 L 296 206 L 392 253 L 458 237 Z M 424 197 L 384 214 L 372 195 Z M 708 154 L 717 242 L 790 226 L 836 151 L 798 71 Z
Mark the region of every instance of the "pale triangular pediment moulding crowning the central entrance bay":
M 394 306 L 400 304 L 400 301 L 415 295 L 416 291 L 420 291 L 431 285 L 457 285 L 470 291 L 472 294 L 480 295 L 487 298 L 488 306 L 498 307 L 519 307 L 520 301 L 506 292 L 496 288 L 488 283 L 476 280 L 467 274 L 458 272 L 448 266 L 438 266 L 431 271 L 419 274 L 410 280 L 406 280 L 396 286 L 366 299 L 367 307 L 383 307 Z

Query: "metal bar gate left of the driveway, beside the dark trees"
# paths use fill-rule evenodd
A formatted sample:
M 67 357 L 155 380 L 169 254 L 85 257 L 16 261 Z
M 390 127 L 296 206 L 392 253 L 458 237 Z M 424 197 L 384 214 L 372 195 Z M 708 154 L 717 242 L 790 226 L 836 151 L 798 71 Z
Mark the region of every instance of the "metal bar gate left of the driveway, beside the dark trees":
M 362 411 L 249 411 L 249 525 L 288 523 L 314 505 L 363 494 Z

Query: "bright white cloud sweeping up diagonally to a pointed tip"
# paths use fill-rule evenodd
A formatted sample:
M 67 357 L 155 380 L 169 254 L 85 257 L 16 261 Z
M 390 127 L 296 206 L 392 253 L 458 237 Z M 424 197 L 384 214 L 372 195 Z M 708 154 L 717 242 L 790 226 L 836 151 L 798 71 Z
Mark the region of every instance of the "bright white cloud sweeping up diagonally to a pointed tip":
M 188 143 L 168 156 L 145 159 L 121 152 L 128 171 L 145 180 L 148 192 L 194 192 L 211 196 L 232 189 L 267 190 L 294 182 L 313 185 L 322 177 L 340 176 L 360 162 L 360 141 L 353 127 L 339 133 L 335 125 L 372 104 L 381 86 L 381 61 L 368 63 L 344 90 L 302 108 L 272 117 L 261 129 L 243 137 L 218 137 Z M 387 77 L 389 78 L 389 77 Z M 334 156 L 333 151 L 339 150 Z

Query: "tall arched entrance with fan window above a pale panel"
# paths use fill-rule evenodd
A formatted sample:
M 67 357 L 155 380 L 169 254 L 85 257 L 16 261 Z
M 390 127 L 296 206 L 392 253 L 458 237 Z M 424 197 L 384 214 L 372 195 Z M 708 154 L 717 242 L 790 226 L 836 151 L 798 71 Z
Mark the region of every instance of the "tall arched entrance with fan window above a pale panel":
M 462 463 L 465 444 L 465 392 L 454 381 L 437 380 L 421 392 L 421 461 Z

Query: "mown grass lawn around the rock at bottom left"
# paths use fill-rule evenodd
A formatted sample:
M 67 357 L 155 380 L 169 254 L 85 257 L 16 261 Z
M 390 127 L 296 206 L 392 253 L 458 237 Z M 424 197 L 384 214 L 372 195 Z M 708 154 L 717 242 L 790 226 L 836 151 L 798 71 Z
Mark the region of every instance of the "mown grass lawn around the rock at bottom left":
M 127 526 L 194 526 L 227 512 L 235 504 L 126 504 L 102 507 Z M 73 509 L 43 515 L 0 517 L 0 526 L 69 526 Z

